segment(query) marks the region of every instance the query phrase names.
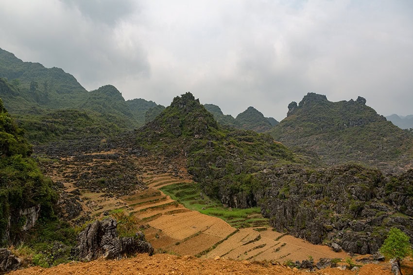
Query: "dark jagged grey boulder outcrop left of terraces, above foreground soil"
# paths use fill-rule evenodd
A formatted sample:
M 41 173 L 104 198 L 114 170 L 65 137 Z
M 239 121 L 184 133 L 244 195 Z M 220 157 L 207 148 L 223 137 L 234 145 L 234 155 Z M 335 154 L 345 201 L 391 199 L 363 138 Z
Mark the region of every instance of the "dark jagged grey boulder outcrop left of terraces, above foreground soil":
M 116 232 L 117 222 L 112 218 L 94 221 L 80 232 L 74 256 L 89 261 L 103 257 L 104 259 L 120 259 L 123 254 L 148 253 L 152 255 L 154 248 L 142 233 L 135 237 L 119 238 Z

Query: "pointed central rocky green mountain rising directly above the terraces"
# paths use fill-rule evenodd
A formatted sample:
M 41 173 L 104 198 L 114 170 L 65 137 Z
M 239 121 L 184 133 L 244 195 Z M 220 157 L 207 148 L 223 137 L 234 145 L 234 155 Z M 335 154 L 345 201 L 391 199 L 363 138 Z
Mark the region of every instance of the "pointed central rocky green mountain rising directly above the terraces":
M 154 121 L 137 132 L 137 145 L 168 158 L 186 158 L 201 188 L 232 207 L 256 206 L 251 178 L 265 163 L 305 162 L 265 134 L 224 129 L 187 93 L 175 97 Z

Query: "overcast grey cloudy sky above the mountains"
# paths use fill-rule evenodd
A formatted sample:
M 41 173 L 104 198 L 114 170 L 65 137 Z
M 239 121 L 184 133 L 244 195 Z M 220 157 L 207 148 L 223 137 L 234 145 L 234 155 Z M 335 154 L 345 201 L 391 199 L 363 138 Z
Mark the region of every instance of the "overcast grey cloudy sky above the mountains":
M 411 0 L 1 0 L 0 48 L 87 90 L 282 120 L 308 92 L 413 113 Z

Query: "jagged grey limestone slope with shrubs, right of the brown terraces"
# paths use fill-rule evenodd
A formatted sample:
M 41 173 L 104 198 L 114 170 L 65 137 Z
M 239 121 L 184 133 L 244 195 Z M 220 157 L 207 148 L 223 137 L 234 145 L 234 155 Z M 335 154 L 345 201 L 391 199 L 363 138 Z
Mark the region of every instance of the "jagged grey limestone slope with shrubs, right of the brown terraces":
M 413 171 L 395 177 L 346 164 L 327 169 L 286 166 L 262 172 L 262 213 L 279 231 L 311 243 L 338 243 L 373 254 L 397 226 L 413 236 Z M 413 242 L 413 240 L 412 240 Z

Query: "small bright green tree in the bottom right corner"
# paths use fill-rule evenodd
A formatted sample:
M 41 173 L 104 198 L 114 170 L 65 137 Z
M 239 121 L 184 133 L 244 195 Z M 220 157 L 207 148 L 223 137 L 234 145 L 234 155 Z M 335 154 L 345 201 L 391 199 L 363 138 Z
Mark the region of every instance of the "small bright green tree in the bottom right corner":
M 380 253 L 389 259 L 396 259 L 398 270 L 401 273 L 400 260 L 412 254 L 412 245 L 409 242 L 410 238 L 400 229 L 393 227 L 389 231 L 387 239 L 384 240 L 380 247 Z

